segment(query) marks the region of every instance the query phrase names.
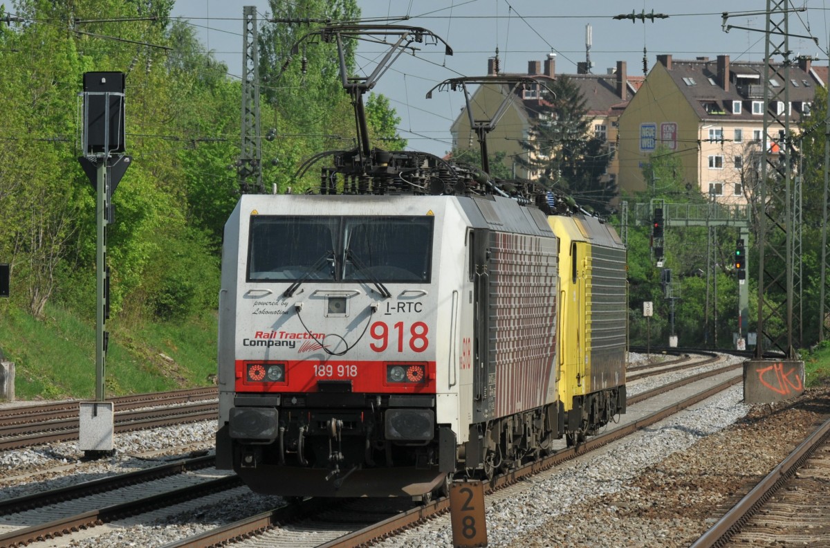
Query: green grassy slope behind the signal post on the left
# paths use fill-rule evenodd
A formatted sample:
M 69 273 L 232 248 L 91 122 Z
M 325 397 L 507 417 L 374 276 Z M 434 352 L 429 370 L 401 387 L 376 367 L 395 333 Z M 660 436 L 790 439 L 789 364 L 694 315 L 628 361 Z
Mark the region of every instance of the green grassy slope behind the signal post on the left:
M 212 384 L 214 315 L 181 323 L 107 323 L 105 395 L 141 394 Z M 0 349 L 15 362 L 17 399 L 95 398 L 95 325 L 59 306 L 38 321 L 0 306 Z

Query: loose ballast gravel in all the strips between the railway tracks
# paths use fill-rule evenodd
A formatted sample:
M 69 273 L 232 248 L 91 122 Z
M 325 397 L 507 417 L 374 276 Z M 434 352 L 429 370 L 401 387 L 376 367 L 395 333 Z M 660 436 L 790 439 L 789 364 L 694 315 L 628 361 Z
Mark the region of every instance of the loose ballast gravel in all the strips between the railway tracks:
M 652 379 L 667 382 L 661 377 L 643 380 L 651 384 Z M 486 499 L 489 546 L 689 546 L 820 418 L 830 415 L 830 388 L 774 405 L 750 407 L 741 403 L 742 397 L 739 384 L 662 423 L 492 494 Z M 211 451 L 215 427 L 207 421 L 116 434 L 118 454 L 97 462 L 79 462 L 73 443 L 0 453 L 0 497 L 153 466 L 200 448 Z M 164 451 L 165 446 L 168 455 L 134 456 Z M 73 472 L 53 472 L 54 478 L 38 472 L 61 465 Z M 27 470 L 31 476 L 25 475 Z M 164 546 L 281 503 L 279 497 L 242 490 L 215 506 L 120 523 L 113 531 L 95 527 L 84 538 L 40 546 Z M 452 546 L 449 516 L 375 546 Z

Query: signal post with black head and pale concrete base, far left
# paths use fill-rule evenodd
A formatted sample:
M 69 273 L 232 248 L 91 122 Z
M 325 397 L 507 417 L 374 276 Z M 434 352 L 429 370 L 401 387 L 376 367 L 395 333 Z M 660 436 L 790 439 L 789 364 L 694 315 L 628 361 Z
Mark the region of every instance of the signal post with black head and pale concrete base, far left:
M 129 167 L 125 154 L 125 75 L 84 74 L 84 155 L 81 168 L 95 188 L 95 401 L 81 402 L 78 447 L 87 457 L 113 452 L 115 409 L 105 401 L 106 352 L 110 334 L 110 267 L 106 260 L 106 228 L 115 223 L 112 196 Z

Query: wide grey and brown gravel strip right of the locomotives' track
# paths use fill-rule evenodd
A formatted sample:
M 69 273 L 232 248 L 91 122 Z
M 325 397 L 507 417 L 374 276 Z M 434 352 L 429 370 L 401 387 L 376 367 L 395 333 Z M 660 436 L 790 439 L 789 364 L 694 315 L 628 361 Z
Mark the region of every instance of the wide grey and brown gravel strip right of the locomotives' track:
M 689 546 L 830 416 L 830 388 L 777 405 L 742 397 L 738 385 L 488 498 L 490 546 Z M 378 546 L 452 546 L 449 518 Z

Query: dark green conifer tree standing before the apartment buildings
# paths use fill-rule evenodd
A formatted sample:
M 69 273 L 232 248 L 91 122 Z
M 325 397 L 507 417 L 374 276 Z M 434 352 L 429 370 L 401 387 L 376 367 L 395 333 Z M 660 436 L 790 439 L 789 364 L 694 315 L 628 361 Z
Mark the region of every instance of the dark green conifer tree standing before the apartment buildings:
M 521 141 L 523 154 L 517 159 L 539 174 L 539 183 L 574 195 L 577 202 L 608 213 L 616 196 L 616 184 L 605 178 L 611 153 L 602 140 L 588 135 L 586 100 L 568 76 L 558 76 L 543 91 L 548 105 L 540 114 L 530 139 Z M 526 156 L 526 158 L 525 158 Z

